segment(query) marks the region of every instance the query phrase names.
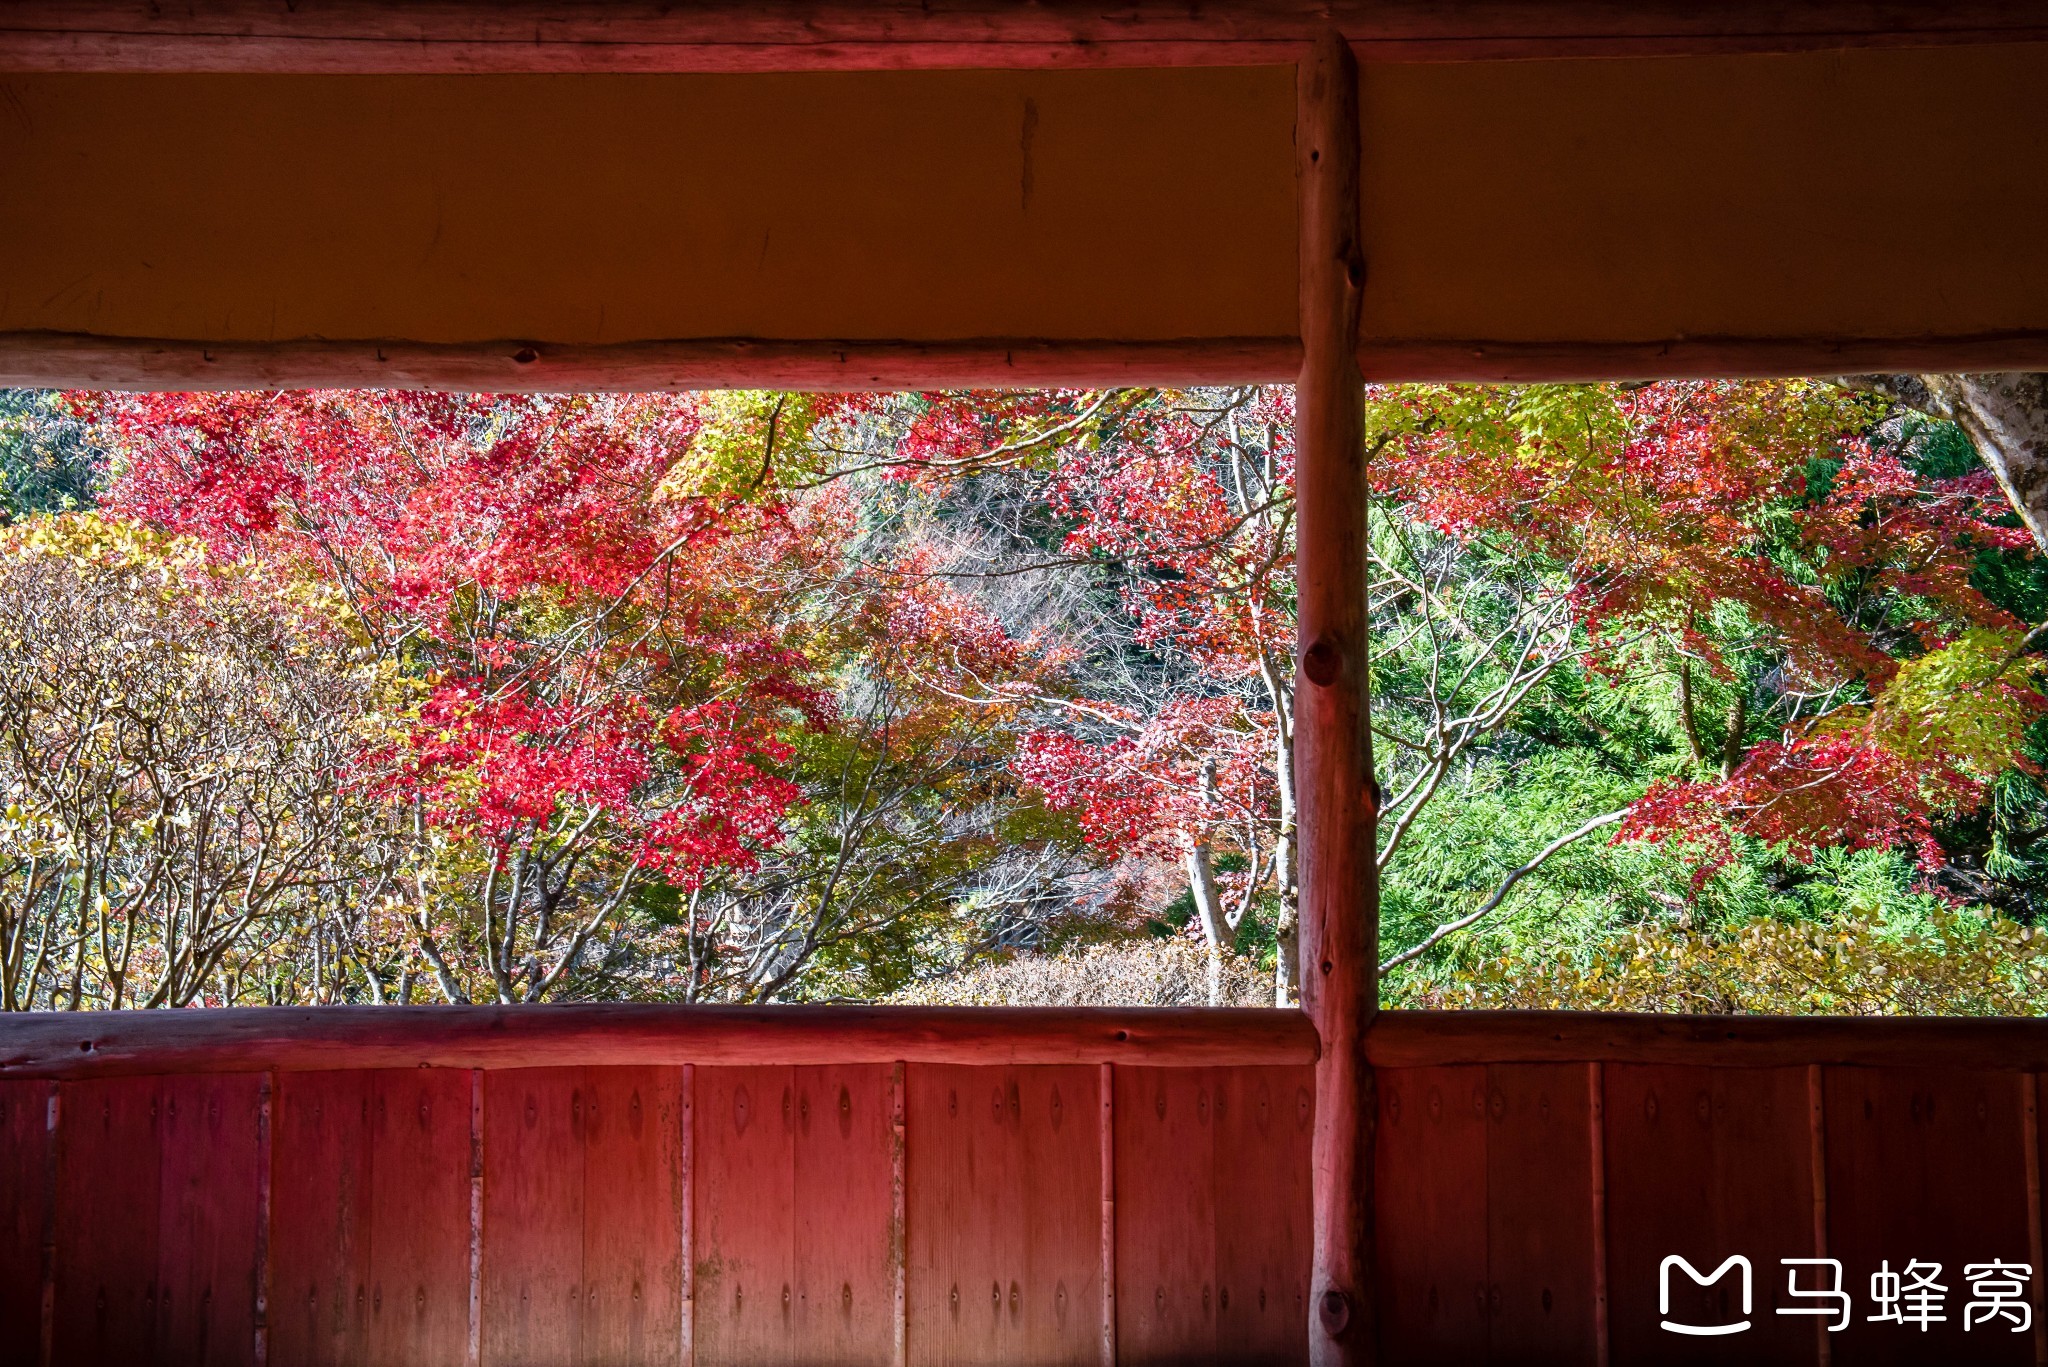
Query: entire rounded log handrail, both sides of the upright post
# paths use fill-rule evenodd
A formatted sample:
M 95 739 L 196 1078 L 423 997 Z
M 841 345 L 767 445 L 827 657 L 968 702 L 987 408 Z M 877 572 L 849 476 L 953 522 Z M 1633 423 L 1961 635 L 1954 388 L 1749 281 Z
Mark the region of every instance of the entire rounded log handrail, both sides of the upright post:
M 0 1017 L 0 1078 L 588 1064 L 1311 1064 L 1294 1010 L 1112 1006 L 238 1006 Z M 1374 1068 L 2048 1070 L 2048 1019 L 1382 1010 Z

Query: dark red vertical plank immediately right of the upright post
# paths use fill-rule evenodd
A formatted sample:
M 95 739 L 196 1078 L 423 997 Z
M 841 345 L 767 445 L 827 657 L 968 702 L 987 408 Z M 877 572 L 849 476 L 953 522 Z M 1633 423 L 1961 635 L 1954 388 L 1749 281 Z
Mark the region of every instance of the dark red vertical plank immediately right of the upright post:
M 1376 1086 L 1380 1349 L 1389 1363 L 1481 1363 L 1487 1357 L 1487 1070 L 1386 1068 Z

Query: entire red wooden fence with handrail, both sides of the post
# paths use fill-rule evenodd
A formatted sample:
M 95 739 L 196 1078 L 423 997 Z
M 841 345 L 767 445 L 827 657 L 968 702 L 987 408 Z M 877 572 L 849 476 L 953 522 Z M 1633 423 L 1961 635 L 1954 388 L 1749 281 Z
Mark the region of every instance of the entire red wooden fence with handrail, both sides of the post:
M 2048 1361 L 2040 1277 L 2025 1332 L 1962 1326 L 1968 1265 L 2042 1271 L 2044 1023 L 1368 1045 L 1386 1363 Z M 1296 1012 L 6 1021 L 0 1363 L 1294 1363 L 1313 1058 Z M 1659 1306 L 1731 1254 L 1747 1316 L 1733 1275 Z M 1778 1314 L 1815 1256 L 1843 1332 Z M 1870 1318 L 1911 1260 L 1925 1332 Z

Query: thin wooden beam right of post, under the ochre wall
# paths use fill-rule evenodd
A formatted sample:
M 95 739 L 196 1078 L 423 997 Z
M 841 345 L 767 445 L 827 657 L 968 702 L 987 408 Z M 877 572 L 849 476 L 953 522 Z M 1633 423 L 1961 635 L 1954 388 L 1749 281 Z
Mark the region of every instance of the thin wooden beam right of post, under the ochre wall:
M 1649 342 L 1446 342 L 1364 338 L 1368 381 L 1776 379 L 2048 371 L 2048 330 L 1968 336 L 1696 336 Z

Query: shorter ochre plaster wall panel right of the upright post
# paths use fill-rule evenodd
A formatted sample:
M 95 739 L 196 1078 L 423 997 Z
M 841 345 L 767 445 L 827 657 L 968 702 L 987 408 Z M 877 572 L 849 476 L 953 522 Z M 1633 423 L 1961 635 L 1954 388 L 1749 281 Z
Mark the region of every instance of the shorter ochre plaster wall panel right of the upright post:
M 1366 338 L 2048 328 L 2048 47 L 1366 68 Z

